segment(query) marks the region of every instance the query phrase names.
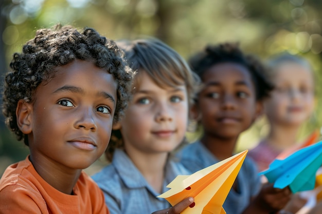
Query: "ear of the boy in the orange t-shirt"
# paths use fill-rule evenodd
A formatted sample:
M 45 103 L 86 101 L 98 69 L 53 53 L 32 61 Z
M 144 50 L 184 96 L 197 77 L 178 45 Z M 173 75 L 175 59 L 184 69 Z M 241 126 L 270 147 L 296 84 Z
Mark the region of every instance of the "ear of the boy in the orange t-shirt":
M 15 115 L 19 129 L 24 134 L 29 134 L 32 131 L 32 104 L 24 100 L 18 101 Z

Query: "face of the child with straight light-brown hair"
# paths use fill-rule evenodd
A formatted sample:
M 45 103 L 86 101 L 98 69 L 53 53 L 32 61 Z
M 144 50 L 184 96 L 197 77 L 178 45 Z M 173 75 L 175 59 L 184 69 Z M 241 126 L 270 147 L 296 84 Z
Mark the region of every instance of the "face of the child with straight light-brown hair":
M 172 151 L 183 141 L 187 129 L 186 87 L 160 88 L 141 72 L 133 99 L 120 121 L 124 147 L 138 153 Z

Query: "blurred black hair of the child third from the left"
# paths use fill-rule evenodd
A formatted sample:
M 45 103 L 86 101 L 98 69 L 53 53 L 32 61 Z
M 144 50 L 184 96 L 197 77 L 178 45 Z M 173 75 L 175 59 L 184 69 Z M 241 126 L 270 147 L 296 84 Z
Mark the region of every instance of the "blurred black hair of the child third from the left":
M 201 80 L 210 67 L 220 63 L 237 63 L 244 66 L 251 73 L 256 90 L 256 100 L 266 98 L 273 89 L 272 83 L 264 77 L 266 69 L 264 65 L 254 55 L 244 54 L 239 48 L 239 43 L 208 45 L 203 51 L 190 57 L 188 63 Z

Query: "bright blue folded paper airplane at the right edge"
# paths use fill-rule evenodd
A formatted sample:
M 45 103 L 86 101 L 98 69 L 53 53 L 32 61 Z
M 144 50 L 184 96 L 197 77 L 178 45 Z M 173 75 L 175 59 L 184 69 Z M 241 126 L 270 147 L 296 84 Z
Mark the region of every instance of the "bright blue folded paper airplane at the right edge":
M 274 183 L 276 188 L 289 186 L 293 193 L 312 190 L 315 186 L 316 171 L 322 164 L 322 141 L 301 148 L 289 157 L 275 159 L 269 169 L 260 172 Z

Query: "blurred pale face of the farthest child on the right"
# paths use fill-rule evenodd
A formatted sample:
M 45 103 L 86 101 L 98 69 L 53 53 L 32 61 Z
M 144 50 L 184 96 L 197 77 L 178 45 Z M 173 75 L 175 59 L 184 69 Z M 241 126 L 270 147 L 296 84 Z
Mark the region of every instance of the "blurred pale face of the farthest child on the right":
M 275 89 L 264 102 L 272 124 L 301 125 L 314 109 L 312 71 L 297 64 L 284 63 L 274 71 Z

